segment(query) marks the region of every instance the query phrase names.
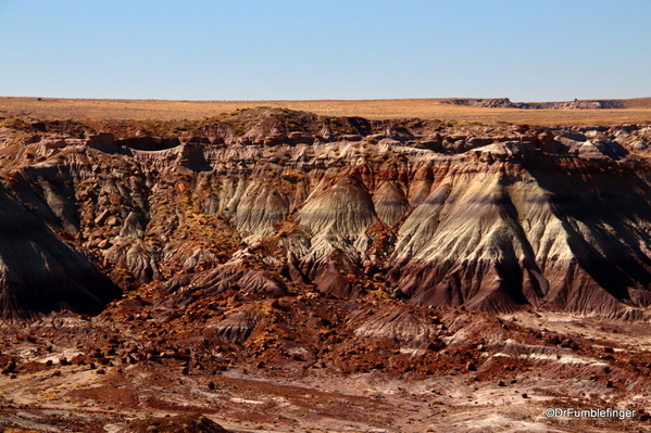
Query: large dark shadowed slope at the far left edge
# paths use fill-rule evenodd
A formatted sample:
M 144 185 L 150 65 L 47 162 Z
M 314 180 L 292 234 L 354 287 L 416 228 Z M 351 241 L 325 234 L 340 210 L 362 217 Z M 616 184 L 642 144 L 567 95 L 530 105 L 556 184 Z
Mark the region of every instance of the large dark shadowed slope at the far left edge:
M 0 318 L 96 315 L 121 295 L 83 254 L 0 190 Z

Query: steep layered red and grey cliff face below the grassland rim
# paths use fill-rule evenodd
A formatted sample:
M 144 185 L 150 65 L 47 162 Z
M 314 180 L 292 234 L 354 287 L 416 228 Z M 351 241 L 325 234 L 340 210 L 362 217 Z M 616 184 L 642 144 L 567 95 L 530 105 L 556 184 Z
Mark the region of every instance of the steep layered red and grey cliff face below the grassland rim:
M 172 309 L 211 293 L 314 290 L 649 318 L 650 125 L 264 107 L 183 124 L 2 125 L 4 318 L 95 314 L 136 290 Z M 226 324 L 215 332 L 250 332 Z

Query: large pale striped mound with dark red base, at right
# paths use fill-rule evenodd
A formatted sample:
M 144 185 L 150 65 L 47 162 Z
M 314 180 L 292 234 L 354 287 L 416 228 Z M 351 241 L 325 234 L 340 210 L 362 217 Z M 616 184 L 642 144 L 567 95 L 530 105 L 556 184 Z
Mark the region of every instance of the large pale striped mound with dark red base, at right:
M 390 279 L 404 297 L 646 314 L 651 214 L 641 178 L 579 158 L 474 164 L 448 173 L 399 229 Z

